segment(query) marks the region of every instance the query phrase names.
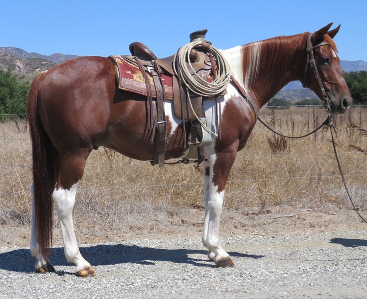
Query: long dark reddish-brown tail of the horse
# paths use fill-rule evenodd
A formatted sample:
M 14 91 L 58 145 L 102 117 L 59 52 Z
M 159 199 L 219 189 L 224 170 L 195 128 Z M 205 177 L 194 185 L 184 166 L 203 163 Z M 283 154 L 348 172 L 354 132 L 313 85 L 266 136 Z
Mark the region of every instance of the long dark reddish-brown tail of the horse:
M 32 142 L 34 216 L 38 250 L 47 256 L 52 247 L 52 144 L 39 117 L 38 90 L 46 72 L 37 75 L 28 95 L 28 123 Z

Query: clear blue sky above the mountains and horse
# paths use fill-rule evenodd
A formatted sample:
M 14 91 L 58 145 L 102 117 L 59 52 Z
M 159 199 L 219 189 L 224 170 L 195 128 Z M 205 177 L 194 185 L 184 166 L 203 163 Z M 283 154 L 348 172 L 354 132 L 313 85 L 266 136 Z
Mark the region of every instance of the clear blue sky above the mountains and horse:
M 189 33 L 227 49 L 279 35 L 316 31 L 329 22 L 342 60 L 367 61 L 365 0 L 5 0 L 0 46 L 50 55 L 118 55 L 133 41 L 158 57 L 173 54 Z M 204 15 L 206 14 L 206 15 Z

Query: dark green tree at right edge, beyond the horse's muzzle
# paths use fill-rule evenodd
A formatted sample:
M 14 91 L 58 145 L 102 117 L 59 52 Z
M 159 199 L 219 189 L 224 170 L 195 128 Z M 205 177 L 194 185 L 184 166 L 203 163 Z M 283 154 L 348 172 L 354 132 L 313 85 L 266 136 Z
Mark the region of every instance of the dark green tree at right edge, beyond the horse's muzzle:
M 355 104 L 367 104 L 367 71 L 344 73 Z

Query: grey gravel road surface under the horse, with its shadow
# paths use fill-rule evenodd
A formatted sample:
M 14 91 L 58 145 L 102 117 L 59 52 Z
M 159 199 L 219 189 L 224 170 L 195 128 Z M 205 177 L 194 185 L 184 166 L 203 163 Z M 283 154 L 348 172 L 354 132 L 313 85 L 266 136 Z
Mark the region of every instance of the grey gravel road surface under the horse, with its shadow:
M 200 238 L 85 244 L 97 276 L 78 278 L 62 248 L 35 274 L 28 248 L 0 248 L 0 298 L 367 298 L 367 231 L 222 237 L 217 268 Z

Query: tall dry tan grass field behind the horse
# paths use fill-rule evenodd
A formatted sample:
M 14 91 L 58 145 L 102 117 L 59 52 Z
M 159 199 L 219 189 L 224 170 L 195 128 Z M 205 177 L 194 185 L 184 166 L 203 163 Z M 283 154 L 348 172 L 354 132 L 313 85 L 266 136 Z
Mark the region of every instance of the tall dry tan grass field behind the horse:
M 339 157 L 355 204 L 361 209 L 367 205 L 366 112 L 357 107 L 335 119 Z M 285 135 L 299 136 L 315 128 L 326 115 L 321 109 L 292 107 L 263 109 L 261 118 Z M 24 122 L 0 124 L 0 149 L 0 223 L 29 225 L 31 149 Z M 330 132 L 283 141 L 258 123 L 247 146 L 238 153 L 226 188 L 225 208 L 257 215 L 285 205 L 323 213 L 350 205 Z M 87 161 L 74 218 L 94 229 L 157 229 L 164 219 L 194 221 L 193 207 L 201 206 L 201 169 L 181 164 L 160 170 L 149 162 L 100 148 Z

